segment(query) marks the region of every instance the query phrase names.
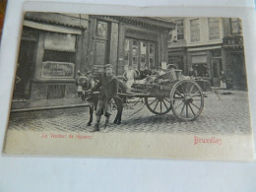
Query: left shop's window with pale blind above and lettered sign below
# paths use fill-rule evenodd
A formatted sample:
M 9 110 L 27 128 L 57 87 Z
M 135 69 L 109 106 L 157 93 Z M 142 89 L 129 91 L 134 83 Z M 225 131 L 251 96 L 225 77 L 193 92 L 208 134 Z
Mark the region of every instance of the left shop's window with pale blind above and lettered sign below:
M 73 79 L 76 63 L 76 35 L 46 32 L 41 64 L 42 79 Z M 49 88 L 49 97 L 52 90 Z

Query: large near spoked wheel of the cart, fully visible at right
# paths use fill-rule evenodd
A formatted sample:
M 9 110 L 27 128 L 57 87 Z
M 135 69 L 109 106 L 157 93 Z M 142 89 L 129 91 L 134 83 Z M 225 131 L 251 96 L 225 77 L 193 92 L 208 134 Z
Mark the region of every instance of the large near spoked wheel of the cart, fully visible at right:
M 195 120 L 204 108 L 204 95 L 200 86 L 191 80 L 177 82 L 170 92 L 174 115 L 181 121 Z

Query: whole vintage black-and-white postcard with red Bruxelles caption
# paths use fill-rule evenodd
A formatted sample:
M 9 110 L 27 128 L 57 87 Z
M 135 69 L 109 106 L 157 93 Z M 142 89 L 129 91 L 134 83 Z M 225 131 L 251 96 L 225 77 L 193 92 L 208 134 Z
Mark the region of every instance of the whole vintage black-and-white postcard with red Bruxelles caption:
M 242 20 L 27 12 L 5 155 L 253 160 Z

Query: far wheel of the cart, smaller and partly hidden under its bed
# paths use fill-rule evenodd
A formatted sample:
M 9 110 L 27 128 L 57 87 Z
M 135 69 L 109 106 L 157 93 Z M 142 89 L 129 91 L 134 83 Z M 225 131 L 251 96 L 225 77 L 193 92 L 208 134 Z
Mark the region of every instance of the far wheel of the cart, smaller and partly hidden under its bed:
M 154 114 L 166 114 L 171 110 L 171 102 L 169 97 L 165 96 L 158 96 L 158 97 L 151 97 L 152 100 L 149 100 L 149 97 L 145 97 L 146 106 L 149 108 L 151 112 Z

